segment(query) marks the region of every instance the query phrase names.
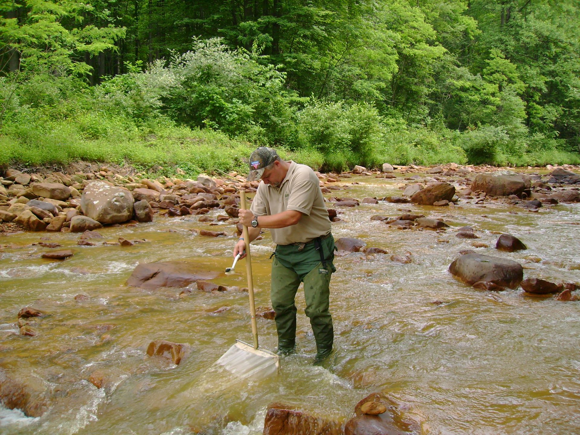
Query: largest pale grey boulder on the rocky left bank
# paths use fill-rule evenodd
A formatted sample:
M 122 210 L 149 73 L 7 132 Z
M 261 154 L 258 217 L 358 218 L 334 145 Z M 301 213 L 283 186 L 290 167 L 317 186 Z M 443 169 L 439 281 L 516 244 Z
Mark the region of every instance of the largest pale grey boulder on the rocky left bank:
M 133 216 L 133 202 L 129 190 L 96 181 L 85 187 L 81 210 L 85 216 L 100 223 L 126 222 Z

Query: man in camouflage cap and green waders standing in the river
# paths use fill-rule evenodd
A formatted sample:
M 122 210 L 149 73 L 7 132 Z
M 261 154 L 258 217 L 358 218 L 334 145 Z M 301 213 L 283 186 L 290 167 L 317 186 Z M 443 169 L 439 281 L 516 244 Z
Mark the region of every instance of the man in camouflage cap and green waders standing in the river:
M 250 155 L 248 180 L 259 180 L 249 211 L 240 209 L 240 222 L 248 227 L 234 256 L 243 252 L 269 228 L 276 252 L 272 262 L 270 297 L 276 312 L 278 354 L 290 354 L 296 346 L 294 299 L 304 282 L 306 316 L 316 339 L 316 361 L 332 351 L 332 317 L 328 311 L 329 283 L 336 270 L 331 222 L 318 185 L 318 177 L 306 165 L 282 160 L 273 148 L 260 147 Z

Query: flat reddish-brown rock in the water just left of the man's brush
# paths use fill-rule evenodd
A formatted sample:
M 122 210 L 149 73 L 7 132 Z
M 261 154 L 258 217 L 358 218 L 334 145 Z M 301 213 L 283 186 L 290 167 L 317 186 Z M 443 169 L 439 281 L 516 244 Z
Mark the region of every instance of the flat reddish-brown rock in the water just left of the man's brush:
M 160 287 L 187 287 L 199 280 L 210 280 L 216 271 L 200 269 L 198 264 L 186 261 L 138 264 L 126 284 L 154 290 Z

